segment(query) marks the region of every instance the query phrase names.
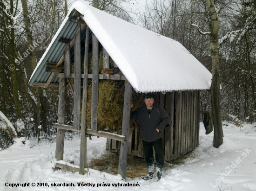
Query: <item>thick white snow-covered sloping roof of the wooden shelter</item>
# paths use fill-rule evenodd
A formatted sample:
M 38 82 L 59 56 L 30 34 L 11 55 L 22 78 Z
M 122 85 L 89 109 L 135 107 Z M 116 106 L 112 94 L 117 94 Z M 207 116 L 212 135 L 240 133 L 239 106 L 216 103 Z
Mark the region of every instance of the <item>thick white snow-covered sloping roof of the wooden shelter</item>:
M 211 73 L 179 42 L 83 2 L 75 2 L 67 15 L 74 9 L 83 15 L 90 30 L 136 91 L 210 89 Z M 70 22 L 68 19 L 68 16 L 64 19 L 36 70 L 49 61 L 43 59 L 47 57 L 47 53 L 51 54 L 49 50 L 58 41 L 57 37 L 63 32 L 69 32 L 64 29 L 67 22 Z M 30 85 L 36 82 L 35 73 L 36 71 L 30 78 Z

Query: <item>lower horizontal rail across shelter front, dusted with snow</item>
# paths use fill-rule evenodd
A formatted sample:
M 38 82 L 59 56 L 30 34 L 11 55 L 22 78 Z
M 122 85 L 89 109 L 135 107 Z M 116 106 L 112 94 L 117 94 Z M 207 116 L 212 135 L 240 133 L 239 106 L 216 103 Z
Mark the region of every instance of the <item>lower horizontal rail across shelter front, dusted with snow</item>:
M 60 128 L 60 129 L 65 129 L 65 130 L 68 130 L 68 131 L 81 132 L 81 130 L 74 129 L 74 126 L 71 126 L 71 125 L 62 125 L 62 124 L 55 123 L 54 127 L 55 128 Z M 94 135 L 94 136 L 99 136 L 99 137 L 106 137 L 106 138 L 118 140 L 118 141 L 121 141 L 121 142 L 125 141 L 125 136 L 123 136 L 121 134 L 113 134 L 113 133 L 106 132 L 106 131 L 93 132 L 92 129 L 86 129 L 85 133 L 86 134 L 91 134 L 91 135 Z

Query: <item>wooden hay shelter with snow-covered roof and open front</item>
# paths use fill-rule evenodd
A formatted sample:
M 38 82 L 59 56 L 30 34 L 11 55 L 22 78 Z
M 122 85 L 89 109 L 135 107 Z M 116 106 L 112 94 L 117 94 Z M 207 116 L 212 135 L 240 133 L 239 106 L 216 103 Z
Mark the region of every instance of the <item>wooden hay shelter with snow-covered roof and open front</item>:
M 109 26 L 109 23 L 106 24 L 106 22 L 110 22 L 112 19 L 113 25 Z M 117 24 L 115 25 L 115 23 Z M 119 30 L 125 31 L 119 32 Z M 125 32 L 127 34 L 124 34 Z M 128 34 L 131 34 L 131 32 L 133 35 L 129 37 Z M 137 44 L 137 40 L 131 40 L 132 36 L 140 37 L 140 35 L 141 37 L 148 35 L 150 39 L 152 37 L 152 42 L 148 42 L 148 39 L 141 40 L 139 38 L 141 42 Z M 76 2 L 70 8 L 67 17 L 55 34 L 47 51 L 40 59 L 29 81 L 29 85 L 35 87 L 59 87 L 58 123 L 54 125 L 57 128 L 55 157 L 58 161 L 63 160 L 64 130 L 81 132 L 80 174 L 85 173 L 85 167 L 87 166 L 87 136 L 107 137 L 107 150 L 120 153 L 118 173 L 125 178 L 128 151 L 133 152 L 139 157 L 143 156 L 143 147 L 141 140 L 139 140 L 139 133 L 136 129 L 133 130 L 133 128 L 129 127 L 130 102 L 133 88 L 137 92 L 155 92 L 155 103 L 164 107 L 171 118 L 170 127 L 165 130 L 164 146 L 166 161 L 176 159 L 198 146 L 200 90 L 210 88 L 211 74 L 177 41 L 166 37 L 158 38 L 155 35 L 157 34 L 154 32 L 115 18 L 82 2 Z M 153 44 L 148 44 L 149 48 L 145 48 L 144 45 L 147 45 L 147 43 Z M 123 44 L 126 47 L 122 47 Z M 174 70 L 175 64 L 178 65 L 178 69 L 175 69 L 175 71 L 170 70 L 170 72 L 175 74 L 179 70 L 183 70 L 185 75 L 182 76 L 183 74 L 181 73 L 181 76 L 176 77 L 176 81 L 175 77 L 168 76 L 165 70 L 168 70 L 169 61 L 165 59 L 159 63 L 159 71 L 155 68 L 146 67 L 149 69 L 145 70 L 151 73 L 154 72 L 154 75 L 151 74 L 151 78 L 155 78 L 155 81 L 146 83 L 145 80 L 148 79 L 148 76 L 138 75 L 141 73 L 140 70 L 143 69 L 144 71 L 145 68 L 145 63 L 142 62 L 145 59 L 153 59 L 151 64 L 154 64 L 155 55 L 150 55 L 147 51 L 152 47 L 157 51 L 160 46 L 164 46 L 165 49 L 169 47 L 169 53 L 172 60 L 174 60 L 172 69 Z M 104 69 L 101 74 L 99 74 L 99 47 L 102 47 L 103 50 Z M 92 51 L 93 55 L 92 74 L 88 74 L 89 51 Z M 168 57 L 165 52 L 162 52 L 162 55 L 158 55 L 159 59 L 163 55 Z M 84 57 L 83 71 L 81 71 L 82 56 Z M 112 69 L 110 69 L 109 65 L 109 56 L 115 62 Z M 73 62 L 74 73 L 71 72 L 71 63 Z M 150 66 L 149 62 L 147 64 Z M 161 68 L 161 64 L 166 68 Z M 148 71 L 145 73 L 148 73 Z M 74 78 L 74 88 L 70 83 L 70 78 Z M 92 79 L 90 129 L 86 128 L 85 121 L 88 79 Z M 99 79 L 125 81 L 121 135 L 98 131 L 97 129 Z M 196 83 L 193 83 L 193 80 Z M 179 83 L 182 84 L 179 85 Z M 81 92 L 81 84 L 83 84 L 83 92 Z M 67 87 L 71 87 L 74 91 L 73 126 L 65 125 Z M 61 166 L 61 163 L 59 164 Z

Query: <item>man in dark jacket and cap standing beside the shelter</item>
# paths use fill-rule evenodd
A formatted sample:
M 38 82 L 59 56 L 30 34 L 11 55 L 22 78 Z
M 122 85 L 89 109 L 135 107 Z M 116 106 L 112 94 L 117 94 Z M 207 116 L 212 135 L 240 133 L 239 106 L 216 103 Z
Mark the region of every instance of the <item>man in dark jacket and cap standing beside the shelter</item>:
M 133 102 L 131 102 L 131 119 L 139 119 L 140 138 L 144 147 L 144 154 L 147 162 L 148 175 L 144 180 L 152 179 L 154 176 L 154 153 L 157 178 L 160 180 L 163 171 L 163 129 L 170 124 L 171 120 L 166 111 L 154 104 L 154 95 L 151 93 L 144 95 L 145 105 L 132 111 Z

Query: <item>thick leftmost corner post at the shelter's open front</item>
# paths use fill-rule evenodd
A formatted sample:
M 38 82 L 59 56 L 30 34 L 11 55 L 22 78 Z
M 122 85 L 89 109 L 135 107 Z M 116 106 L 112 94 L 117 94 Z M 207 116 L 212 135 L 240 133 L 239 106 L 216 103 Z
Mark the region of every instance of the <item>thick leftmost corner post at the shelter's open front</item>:
M 59 81 L 60 81 L 60 84 L 59 84 L 58 123 L 65 124 L 66 96 L 67 96 L 66 78 L 61 77 Z M 56 150 L 55 150 L 55 158 L 57 160 L 63 160 L 64 133 L 65 133 L 64 129 L 57 128 Z

